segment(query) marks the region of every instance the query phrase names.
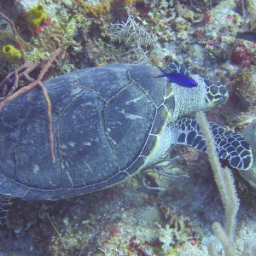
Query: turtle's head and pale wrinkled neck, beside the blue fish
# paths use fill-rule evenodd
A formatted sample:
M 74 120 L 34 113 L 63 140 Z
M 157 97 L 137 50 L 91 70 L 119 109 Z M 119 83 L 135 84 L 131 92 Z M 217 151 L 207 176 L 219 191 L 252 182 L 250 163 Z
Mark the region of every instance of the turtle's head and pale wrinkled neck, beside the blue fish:
M 190 77 L 198 86 L 185 88 L 172 83 L 178 116 L 214 108 L 227 101 L 229 92 L 220 82 L 199 74 L 191 74 Z

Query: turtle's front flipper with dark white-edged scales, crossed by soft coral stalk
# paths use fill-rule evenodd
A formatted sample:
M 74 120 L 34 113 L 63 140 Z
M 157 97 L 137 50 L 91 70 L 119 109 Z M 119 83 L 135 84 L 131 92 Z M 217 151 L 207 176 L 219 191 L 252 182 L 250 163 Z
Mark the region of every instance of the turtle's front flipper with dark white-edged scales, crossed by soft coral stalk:
M 253 153 L 245 138 L 239 133 L 226 131 L 215 123 L 209 124 L 218 156 L 228 160 L 230 166 L 238 170 L 250 169 L 253 165 Z M 196 119 L 177 119 L 170 124 L 169 128 L 175 144 L 190 145 L 207 153 L 205 139 Z

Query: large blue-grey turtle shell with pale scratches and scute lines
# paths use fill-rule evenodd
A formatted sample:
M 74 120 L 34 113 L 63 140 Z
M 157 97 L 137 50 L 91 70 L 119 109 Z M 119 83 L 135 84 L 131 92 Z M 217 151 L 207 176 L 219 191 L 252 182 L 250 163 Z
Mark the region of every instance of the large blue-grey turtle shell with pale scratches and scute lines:
M 52 103 L 54 164 L 42 91 L 37 87 L 9 102 L 0 113 L 0 193 L 58 200 L 105 189 L 154 161 L 174 109 L 171 85 L 154 79 L 155 69 L 108 65 L 44 82 Z

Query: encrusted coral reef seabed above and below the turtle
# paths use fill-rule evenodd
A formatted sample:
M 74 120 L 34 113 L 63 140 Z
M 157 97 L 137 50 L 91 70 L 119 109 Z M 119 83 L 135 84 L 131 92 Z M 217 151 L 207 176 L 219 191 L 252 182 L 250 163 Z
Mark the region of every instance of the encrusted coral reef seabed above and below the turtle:
M 207 117 L 233 131 L 250 129 L 255 145 L 255 0 L 0 0 L 0 12 L 17 33 L 1 16 L 0 83 L 24 63 L 37 77 L 53 55 L 58 61 L 43 81 L 110 63 L 166 67 L 176 60 L 227 86 L 228 102 Z M 207 155 L 178 146 L 170 152 L 175 156 L 167 171 L 188 177 L 148 177 L 165 191 L 146 189 L 137 173 L 68 200 L 13 199 L 0 255 L 207 256 L 212 241 L 215 255 L 224 255 L 212 234 L 213 222 L 224 223 L 224 208 Z M 236 255 L 256 255 L 256 192 L 233 174 L 240 199 Z M 242 253 L 248 244 L 254 250 Z

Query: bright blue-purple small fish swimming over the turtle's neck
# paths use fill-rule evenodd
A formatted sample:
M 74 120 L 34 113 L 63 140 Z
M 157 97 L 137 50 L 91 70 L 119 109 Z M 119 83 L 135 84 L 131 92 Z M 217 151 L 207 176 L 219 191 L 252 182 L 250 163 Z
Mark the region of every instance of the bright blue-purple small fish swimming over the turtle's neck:
M 167 73 L 165 70 L 163 70 L 161 67 L 156 66 L 160 69 L 162 74 L 154 77 L 154 78 L 162 78 L 166 77 L 170 80 L 171 83 L 178 84 L 183 87 L 195 87 L 197 86 L 197 82 L 195 82 L 194 79 L 191 79 L 187 74 L 185 73 L 179 73 L 177 71 L 172 71 L 171 73 Z

